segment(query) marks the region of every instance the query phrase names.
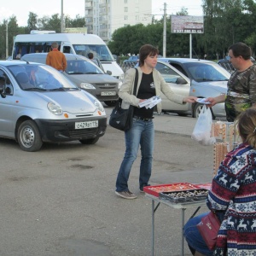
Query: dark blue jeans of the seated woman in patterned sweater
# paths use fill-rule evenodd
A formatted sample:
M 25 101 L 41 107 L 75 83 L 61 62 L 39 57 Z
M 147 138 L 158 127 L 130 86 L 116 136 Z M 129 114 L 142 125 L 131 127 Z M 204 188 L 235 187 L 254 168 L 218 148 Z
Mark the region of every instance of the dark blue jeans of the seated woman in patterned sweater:
M 207 256 L 212 256 L 213 251 L 209 250 L 205 241 L 203 240 L 196 225 L 201 222 L 201 218 L 206 216 L 208 212 L 201 213 L 200 215 L 189 218 L 188 222 L 183 227 L 183 236 L 189 244 L 191 252 L 194 254 L 193 249 L 199 253 Z

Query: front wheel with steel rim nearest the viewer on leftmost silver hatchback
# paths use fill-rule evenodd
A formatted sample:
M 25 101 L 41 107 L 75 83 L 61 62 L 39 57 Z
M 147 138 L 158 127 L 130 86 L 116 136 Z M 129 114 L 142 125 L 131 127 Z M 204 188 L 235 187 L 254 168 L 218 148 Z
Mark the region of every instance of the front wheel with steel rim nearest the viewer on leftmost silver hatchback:
M 32 120 L 20 124 L 17 138 L 20 148 L 27 152 L 38 151 L 43 145 L 38 126 Z

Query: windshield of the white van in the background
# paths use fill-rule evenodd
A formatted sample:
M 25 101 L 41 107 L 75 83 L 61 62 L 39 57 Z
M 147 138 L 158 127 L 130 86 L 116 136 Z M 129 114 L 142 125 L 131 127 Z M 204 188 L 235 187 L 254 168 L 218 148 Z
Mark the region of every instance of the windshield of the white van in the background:
M 105 44 L 73 44 L 73 48 L 77 55 L 83 55 L 86 58 L 91 52 L 100 61 L 113 61 L 113 56 Z

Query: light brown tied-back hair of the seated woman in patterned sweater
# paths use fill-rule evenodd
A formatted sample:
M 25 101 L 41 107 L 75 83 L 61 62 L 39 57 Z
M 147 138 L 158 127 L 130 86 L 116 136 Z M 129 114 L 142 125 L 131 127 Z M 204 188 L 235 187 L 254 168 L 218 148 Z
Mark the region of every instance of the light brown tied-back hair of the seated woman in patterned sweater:
M 256 108 L 247 108 L 240 113 L 236 125 L 242 141 L 256 148 Z

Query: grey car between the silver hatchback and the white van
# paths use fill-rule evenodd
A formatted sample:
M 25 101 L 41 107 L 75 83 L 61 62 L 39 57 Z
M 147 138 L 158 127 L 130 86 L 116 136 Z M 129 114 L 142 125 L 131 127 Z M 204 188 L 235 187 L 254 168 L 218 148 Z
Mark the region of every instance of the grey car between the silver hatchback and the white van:
M 47 53 L 26 54 L 22 61 L 45 63 Z M 113 78 L 111 72 L 103 73 L 92 61 L 82 55 L 65 54 L 67 69 L 63 73 L 79 88 L 90 92 L 99 101 L 113 106 L 118 100 L 121 80 Z

